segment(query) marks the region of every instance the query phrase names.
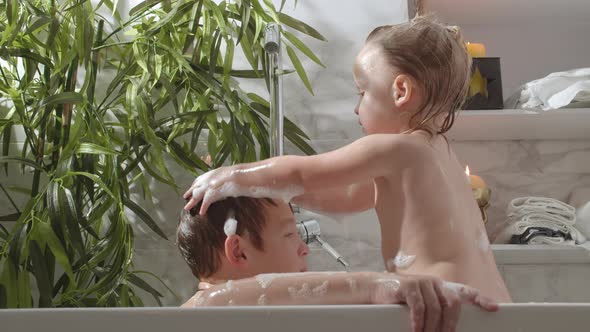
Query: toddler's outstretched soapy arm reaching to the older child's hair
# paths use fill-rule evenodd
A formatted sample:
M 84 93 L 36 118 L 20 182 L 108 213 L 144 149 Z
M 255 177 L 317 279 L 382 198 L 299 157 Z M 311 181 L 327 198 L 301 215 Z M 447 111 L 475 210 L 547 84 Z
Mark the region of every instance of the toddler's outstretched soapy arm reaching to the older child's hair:
M 198 177 L 184 194 L 185 209 L 201 200 L 208 206 L 230 196 L 280 198 L 367 183 L 396 172 L 404 135 L 375 134 L 340 149 L 315 156 L 282 156 L 250 164 L 222 167 Z M 403 160 L 403 159 L 402 159 Z

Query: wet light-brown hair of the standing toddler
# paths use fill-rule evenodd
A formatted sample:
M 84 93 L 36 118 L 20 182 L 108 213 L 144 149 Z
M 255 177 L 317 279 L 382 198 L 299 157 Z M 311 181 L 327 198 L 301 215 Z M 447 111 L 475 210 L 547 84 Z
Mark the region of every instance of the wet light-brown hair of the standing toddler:
M 471 76 L 471 58 L 459 28 L 420 15 L 407 23 L 377 27 L 366 42 L 381 46 L 389 64 L 415 79 L 424 93 L 422 105 L 410 118 L 409 132 L 449 131 L 465 102 Z M 439 115 L 445 115 L 444 120 L 433 132 L 429 123 Z

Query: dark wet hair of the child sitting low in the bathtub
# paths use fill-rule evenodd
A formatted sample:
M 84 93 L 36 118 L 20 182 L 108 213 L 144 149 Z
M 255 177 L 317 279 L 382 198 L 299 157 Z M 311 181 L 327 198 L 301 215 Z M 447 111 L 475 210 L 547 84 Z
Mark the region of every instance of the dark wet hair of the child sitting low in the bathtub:
M 176 244 L 193 275 L 207 278 L 219 269 L 227 238 L 223 226 L 232 213 L 238 221 L 236 234 L 247 235 L 256 249 L 264 250 L 261 233 L 268 205 L 277 204 L 267 198 L 228 197 L 213 203 L 205 216 L 199 215 L 201 203 L 190 211 L 183 209 L 176 228 Z

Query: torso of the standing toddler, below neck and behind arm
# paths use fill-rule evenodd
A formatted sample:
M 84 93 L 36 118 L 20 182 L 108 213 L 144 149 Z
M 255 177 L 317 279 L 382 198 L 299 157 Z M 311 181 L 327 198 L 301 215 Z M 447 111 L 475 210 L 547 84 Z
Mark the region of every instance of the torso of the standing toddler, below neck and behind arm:
M 375 179 L 382 254 L 390 271 L 435 275 L 511 302 L 468 178 L 442 136 L 422 132 L 404 169 Z

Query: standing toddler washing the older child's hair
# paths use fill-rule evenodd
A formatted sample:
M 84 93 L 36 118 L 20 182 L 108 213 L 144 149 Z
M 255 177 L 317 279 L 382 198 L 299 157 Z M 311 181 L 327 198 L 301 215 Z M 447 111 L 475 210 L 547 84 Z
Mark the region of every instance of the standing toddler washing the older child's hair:
M 430 18 L 373 30 L 353 75 L 366 136 L 328 153 L 221 167 L 185 193 L 192 209 L 232 196 L 291 200 L 326 214 L 374 208 L 385 266 L 510 296 L 496 268 L 468 178 L 444 134 L 468 91 L 459 31 Z M 274 222 L 274 221 L 273 221 Z

